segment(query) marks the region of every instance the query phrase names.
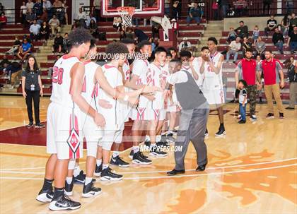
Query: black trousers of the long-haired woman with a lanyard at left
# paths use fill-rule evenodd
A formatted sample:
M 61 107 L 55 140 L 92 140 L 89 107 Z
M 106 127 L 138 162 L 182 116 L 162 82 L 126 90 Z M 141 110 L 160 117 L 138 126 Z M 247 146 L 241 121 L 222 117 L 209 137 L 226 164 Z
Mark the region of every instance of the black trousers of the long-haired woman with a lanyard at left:
M 34 102 L 34 116 L 35 123 L 40 123 L 39 119 L 39 102 L 40 102 L 40 90 L 25 90 L 27 97 L 25 103 L 27 105 L 29 121 L 33 123 L 33 111 L 32 111 L 32 100 Z

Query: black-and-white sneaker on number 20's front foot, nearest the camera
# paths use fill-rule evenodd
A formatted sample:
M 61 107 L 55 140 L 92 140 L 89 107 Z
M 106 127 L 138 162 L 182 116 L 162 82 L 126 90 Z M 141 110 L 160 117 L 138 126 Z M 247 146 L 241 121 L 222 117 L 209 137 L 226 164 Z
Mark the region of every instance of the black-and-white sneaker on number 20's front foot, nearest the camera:
M 72 201 L 68 196 L 62 195 L 53 200 L 49 206 L 50 210 L 76 210 L 81 208 L 81 203 Z

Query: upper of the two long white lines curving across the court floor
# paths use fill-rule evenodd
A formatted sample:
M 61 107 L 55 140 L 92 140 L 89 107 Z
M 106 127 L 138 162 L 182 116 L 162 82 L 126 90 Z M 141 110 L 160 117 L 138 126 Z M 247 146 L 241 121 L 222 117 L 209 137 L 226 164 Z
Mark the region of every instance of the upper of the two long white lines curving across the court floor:
M 259 162 L 259 163 L 252 163 L 252 164 L 246 164 L 246 165 L 210 167 L 210 168 L 206 168 L 206 170 L 219 170 L 219 169 L 228 169 L 228 168 L 235 168 L 235 167 L 249 167 L 249 166 L 254 166 L 254 165 L 267 165 L 267 164 L 271 164 L 274 162 L 286 162 L 286 161 L 291 161 L 291 160 L 296 160 L 296 159 L 297 159 L 297 157 L 293 157 L 293 158 L 284 159 L 284 160 L 272 160 L 269 162 Z M 296 163 L 296 165 L 297 165 L 297 163 Z M 196 171 L 196 170 L 195 169 L 185 170 L 185 172 L 192 172 L 192 171 Z M 1 170 L 1 169 L 0 169 L 0 172 L 1 173 L 10 173 L 10 174 L 45 174 L 44 172 L 16 172 L 16 171 L 12 171 L 12 170 Z M 118 173 L 120 173 L 120 174 L 148 174 L 148 173 L 163 173 L 163 172 L 168 172 L 168 170 L 167 171 L 144 171 L 144 172 L 118 172 Z

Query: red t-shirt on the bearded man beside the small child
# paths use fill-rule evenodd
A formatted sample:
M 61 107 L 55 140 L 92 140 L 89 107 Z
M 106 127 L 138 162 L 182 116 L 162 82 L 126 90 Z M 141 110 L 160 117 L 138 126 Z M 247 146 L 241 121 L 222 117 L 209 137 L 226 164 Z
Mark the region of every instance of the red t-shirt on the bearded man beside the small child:
M 257 63 L 254 59 L 242 59 L 238 63 L 239 78 L 245 80 L 248 85 L 256 84 Z

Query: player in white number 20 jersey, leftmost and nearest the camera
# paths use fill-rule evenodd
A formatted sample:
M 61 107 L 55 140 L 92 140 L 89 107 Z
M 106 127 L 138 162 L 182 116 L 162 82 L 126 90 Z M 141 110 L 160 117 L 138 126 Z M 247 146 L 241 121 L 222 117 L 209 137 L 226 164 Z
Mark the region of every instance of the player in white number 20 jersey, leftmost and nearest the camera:
M 90 115 L 97 126 L 105 126 L 103 115 L 96 112 L 81 96 L 85 69 L 79 59 L 89 51 L 91 38 L 84 29 L 72 31 L 69 34 L 69 54 L 54 64 L 52 102 L 47 110 L 47 153 L 51 156 L 45 167 L 44 184 L 36 198 L 42 202 L 52 201 L 50 210 L 75 210 L 81 207 L 81 203 L 64 196 L 69 159 L 74 167 L 75 159 L 83 155 L 81 111 Z

